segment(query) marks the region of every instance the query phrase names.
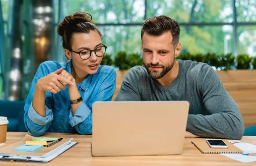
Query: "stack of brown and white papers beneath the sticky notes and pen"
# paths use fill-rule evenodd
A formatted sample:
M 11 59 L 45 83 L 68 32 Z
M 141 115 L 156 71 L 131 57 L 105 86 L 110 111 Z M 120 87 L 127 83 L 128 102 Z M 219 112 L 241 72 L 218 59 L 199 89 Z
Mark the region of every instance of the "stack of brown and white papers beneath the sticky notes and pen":
M 32 140 L 32 136 L 26 135 L 22 140 L 0 149 L 0 159 L 2 161 L 27 161 L 27 162 L 49 162 L 57 156 L 64 153 L 69 148 L 75 146 L 73 138 L 64 138 L 62 141 L 52 145 L 51 147 L 44 147 L 35 152 L 15 151 L 16 147 L 24 145 L 26 141 Z

